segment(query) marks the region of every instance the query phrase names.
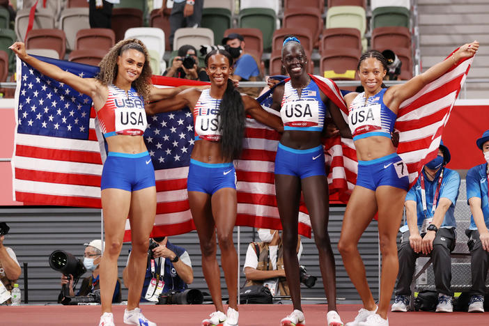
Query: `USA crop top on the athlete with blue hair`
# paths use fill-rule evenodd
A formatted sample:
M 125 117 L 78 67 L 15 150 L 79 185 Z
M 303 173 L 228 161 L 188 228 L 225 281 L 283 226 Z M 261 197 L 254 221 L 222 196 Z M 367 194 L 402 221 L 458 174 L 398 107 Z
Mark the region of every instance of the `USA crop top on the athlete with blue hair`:
M 290 80 L 286 82 L 280 109 L 284 130 L 323 131 L 325 114 L 318 85 L 312 79 L 300 96 Z

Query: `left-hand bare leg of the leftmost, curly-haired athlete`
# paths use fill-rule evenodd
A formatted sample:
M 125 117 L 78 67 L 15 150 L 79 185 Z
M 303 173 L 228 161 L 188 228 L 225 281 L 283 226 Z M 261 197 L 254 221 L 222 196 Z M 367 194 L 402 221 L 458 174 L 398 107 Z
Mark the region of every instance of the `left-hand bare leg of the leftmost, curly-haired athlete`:
M 129 214 L 131 192 L 123 189 L 102 190 L 105 247 L 100 261 L 100 302 L 102 313 L 111 312 L 117 281 L 117 258 L 121 253 L 125 219 Z

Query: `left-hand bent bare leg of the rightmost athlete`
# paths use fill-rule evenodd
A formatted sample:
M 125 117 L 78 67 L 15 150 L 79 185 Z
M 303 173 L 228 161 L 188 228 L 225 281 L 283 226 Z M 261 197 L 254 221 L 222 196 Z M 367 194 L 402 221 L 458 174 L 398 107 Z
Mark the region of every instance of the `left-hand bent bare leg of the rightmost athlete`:
M 348 205 L 346 205 L 341 236 L 338 242 L 338 249 L 343 258 L 346 272 L 348 272 L 352 284 L 357 288 L 364 308 L 371 311 L 375 309 L 375 301 L 368 287 L 365 265 L 357 246 L 362 233 L 370 224 L 376 211 L 375 192 L 364 187 L 355 186 L 348 200 Z

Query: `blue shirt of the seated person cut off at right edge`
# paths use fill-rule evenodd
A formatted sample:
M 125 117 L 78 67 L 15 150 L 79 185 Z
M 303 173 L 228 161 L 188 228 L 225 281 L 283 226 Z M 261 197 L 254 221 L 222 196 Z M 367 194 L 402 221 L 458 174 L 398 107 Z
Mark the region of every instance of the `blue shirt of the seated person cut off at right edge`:
M 467 203 L 469 199 L 477 197 L 481 199 L 481 209 L 484 215 L 484 222 L 489 228 L 489 199 L 488 199 L 488 164 L 476 165 L 467 172 L 465 181 L 467 182 Z M 477 230 L 474 222 L 474 215 L 470 215 L 471 230 Z

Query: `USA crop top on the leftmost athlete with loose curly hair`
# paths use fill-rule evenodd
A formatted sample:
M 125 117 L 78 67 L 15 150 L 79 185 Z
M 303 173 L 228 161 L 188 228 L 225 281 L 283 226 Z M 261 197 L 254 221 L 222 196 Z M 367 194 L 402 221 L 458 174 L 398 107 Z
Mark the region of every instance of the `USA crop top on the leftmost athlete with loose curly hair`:
M 134 88 L 126 94 L 123 89 L 109 85 L 107 102 L 98 110 L 97 116 L 105 137 L 116 134 L 139 136 L 148 125 L 143 98 Z

